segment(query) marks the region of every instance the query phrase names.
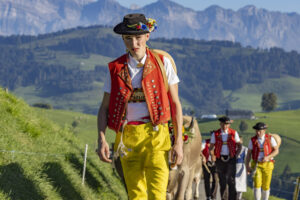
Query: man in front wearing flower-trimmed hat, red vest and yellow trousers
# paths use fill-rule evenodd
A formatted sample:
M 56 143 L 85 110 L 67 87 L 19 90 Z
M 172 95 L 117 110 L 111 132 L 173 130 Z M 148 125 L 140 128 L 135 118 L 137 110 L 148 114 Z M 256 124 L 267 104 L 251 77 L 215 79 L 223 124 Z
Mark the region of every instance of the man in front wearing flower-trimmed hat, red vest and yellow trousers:
M 105 139 L 109 127 L 117 133 L 114 151 L 121 155 L 130 200 L 166 199 L 171 149 L 167 122 L 171 115 L 176 139 L 170 160 L 178 165 L 183 158 L 179 79 L 170 59 L 146 45 L 155 29 L 155 20 L 143 14 L 128 14 L 114 27 L 114 32 L 122 35 L 128 53 L 108 64 L 98 112 L 97 153 L 102 161 L 112 162 Z

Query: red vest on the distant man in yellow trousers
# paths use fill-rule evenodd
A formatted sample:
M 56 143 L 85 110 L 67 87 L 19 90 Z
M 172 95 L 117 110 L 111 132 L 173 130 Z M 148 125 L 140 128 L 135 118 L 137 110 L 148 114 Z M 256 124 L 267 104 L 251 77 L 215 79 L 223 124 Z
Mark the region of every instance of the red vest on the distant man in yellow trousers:
M 258 160 L 258 155 L 260 152 L 260 146 L 258 143 L 257 135 L 251 138 L 252 141 L 252 159 L 254 161 Z M 265 134 L 265 142 L 264 142 L 264 155 L 268 156 L 272 153 L 272 146 L 271 146 L 271 135 Z

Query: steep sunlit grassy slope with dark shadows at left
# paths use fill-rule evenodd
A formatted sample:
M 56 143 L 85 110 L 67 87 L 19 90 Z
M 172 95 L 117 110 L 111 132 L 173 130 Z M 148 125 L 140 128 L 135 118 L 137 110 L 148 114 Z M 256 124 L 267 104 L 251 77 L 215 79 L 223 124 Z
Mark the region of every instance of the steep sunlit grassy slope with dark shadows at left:
M 0 89 L 0 199 L 127 199 L 91 146 L 81 184 L 84 147 L 69 125 L 55 124 Z

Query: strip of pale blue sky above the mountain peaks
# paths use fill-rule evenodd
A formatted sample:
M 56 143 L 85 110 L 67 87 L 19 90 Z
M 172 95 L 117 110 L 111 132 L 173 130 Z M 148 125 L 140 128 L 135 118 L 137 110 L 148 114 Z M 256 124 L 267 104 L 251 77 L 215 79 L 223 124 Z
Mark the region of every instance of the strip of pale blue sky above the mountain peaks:
M 122 6 L 130 7 L 132 4 L 145 6 L 157 0 L 116 0 Z M 254 5 L 257 8 L 265 8 L 269 11 L 297 12 L 300 14 L 300 0 L 172 0 L 184 7 L 193 10 L 204 10 L 211 5 L 219 5 L 222 8 L 238 10 L 246 5 Z

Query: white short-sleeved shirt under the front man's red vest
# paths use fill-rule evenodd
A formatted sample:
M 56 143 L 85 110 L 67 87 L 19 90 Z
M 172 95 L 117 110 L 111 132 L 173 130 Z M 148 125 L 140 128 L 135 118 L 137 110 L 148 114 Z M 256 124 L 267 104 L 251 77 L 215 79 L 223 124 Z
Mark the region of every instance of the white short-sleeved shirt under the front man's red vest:
M 129 74 L 131 77 L 131 84 L 133 88 L 141 88 L 142 87 L 142 76 L 143 76 L 143 69 L 144 67 L 136 67 L 139 63 L 135 60 L 130 54 L 128 59 L 128 69 Z M 145 64 L 147 59 L 147 55 L 143 57 L 141 60 L 142 64 Z M 173 85 L 179 83 L 179 78 L 175 73 L 173 66 L 171 64 L 170 59 L 167 57 L 163 57 L 164 59 L 164 67 L 166 69 L 166 76 L 168 79 L 168 84 Z M 102 88 L 103 92 L 110 93 L 111 91 L 111 77 L 110 72 L 106 75 L 106 80 L 104 82 L 104 86 Z M 135 103 L 128 103 L 127 106 L 127 120 L 128 121 L 137 121 L 142 117 L 149 116 L 149 111 L 146 102 L 135 102 Z

